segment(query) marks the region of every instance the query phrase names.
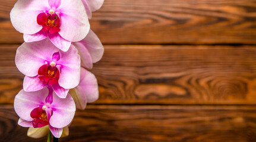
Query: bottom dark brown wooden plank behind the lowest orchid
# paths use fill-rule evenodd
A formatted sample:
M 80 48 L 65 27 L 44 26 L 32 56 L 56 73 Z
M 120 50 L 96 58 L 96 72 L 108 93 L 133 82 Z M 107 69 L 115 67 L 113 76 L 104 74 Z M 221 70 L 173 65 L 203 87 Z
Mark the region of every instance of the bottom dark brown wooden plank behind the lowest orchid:
M 77 111 L 60 141 L 256 140 L 255 106 L 96 106 Z M 26 136 L 12 106 L 0 108 L 0 141 L 46 141 Z

